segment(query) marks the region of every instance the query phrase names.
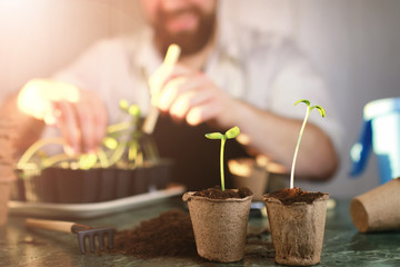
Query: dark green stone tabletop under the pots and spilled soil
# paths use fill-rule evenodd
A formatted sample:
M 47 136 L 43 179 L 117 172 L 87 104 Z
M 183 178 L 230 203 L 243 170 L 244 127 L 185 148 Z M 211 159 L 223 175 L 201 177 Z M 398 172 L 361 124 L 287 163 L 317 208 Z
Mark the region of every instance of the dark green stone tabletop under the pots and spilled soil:
M 171 209 L 186 210 L 179 197 L 77 222 L 92 226 L 113 225 L 117 229 L 132 229 L 142 220 L 158 217 Z M 246 247 L 244 259 L 233 264 L 218 264 L 201 258 L 160 257 L 139 259 L 122 255 L 80 254 L 77 236 L 48 230 L 29 230 L 24 217 L 12 215 L 0 227 L 0 266 L 276 266 L 271 237 L 257 235 L 258 240 Z M 260 233 L 268 219 L 251 216 L 249 231 Z M 323 250 L 319 266 L 400 266 L 400 231 L 359 234 L 351 222 L 349 200 L 337 200 L 328 210 Z

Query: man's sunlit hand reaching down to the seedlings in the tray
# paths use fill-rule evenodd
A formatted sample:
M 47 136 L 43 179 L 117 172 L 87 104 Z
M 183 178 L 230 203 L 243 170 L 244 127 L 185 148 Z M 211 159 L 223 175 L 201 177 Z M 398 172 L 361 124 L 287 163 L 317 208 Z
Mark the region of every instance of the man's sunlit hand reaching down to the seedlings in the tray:
M 107 127 L 101 99 L 90 90 L 51 80 L 31 80 L 18 95 L 22 112 L 60 128 L 70 155 L 94 151 Z

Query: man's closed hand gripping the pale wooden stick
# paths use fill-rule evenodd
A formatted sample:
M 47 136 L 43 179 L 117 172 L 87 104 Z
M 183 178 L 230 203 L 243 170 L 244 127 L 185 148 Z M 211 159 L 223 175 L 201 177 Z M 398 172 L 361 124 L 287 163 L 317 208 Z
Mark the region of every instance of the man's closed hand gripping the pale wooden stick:
M 177 63 L 172 69 L 161 67 L 151 81 L 151 91 L 158 91 L 157 107 L 174 120 L 186 120 L 191 126 L 209 120 L 220 127 L 234 123 L 236 100 L 204 73 Z

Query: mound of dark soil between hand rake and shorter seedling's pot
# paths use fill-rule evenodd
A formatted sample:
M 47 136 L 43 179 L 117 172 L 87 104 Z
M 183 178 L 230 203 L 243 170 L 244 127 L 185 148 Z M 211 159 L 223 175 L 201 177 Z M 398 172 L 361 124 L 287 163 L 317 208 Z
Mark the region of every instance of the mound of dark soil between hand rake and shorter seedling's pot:
M 132 230 L 117 231 L 111 253 L 138 258 L 197 257 L 190 216 L 174 209 L 142 221 Z

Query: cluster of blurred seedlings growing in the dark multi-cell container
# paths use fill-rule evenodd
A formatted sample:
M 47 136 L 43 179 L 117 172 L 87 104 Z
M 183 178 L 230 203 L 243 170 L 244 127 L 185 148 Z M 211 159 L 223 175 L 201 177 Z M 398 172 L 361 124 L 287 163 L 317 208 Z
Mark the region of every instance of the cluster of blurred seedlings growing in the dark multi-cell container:
M 124 99 L 120 101 L 119 106 L 130 117 L 130 120 L 108 126 L 102 146 L 96 154 L 81 154 L 71 157 L 63 152 L 48 156 L 41 149 L 50 145 L 62 146 L 63 139 L 60 137 L 43 138 L 28 148 L 18 161 L 17 167 L 19 169 L 27 167 L 44 169 L 56 165 L 68 166 L 73 164 L 77 168 L 90 169 L 93 167 L 109 168 L 123 161 L 123 167 L 134 168 L 143 162 L 144 154 L 146 160 L 156 161 L 159 157 L 156 144 L 149 138 L 142 138 L 140 131 L 141 112 L 139 107 L 129 105 Z

